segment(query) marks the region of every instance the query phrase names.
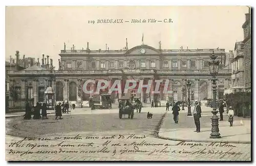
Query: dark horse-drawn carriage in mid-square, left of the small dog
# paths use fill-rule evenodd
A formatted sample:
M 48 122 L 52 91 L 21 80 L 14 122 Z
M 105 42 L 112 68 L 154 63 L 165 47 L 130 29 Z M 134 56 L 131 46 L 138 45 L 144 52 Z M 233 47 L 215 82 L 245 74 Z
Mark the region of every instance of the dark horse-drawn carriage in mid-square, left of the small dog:
M 118 99 L 119 102 L 119 118 L 122 119 L 123 115 L 129 115 L 128 118 L 133 119 L 134 107 L 132 105 L 132 98 L 122 96 Z

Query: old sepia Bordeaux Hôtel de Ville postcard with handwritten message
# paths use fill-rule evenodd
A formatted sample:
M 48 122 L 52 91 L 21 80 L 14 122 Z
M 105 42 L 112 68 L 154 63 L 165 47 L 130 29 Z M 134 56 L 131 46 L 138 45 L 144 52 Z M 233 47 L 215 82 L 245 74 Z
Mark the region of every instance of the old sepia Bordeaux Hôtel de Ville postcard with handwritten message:
M 6 7 L 7 161 L 251 161 L 249 6 Z

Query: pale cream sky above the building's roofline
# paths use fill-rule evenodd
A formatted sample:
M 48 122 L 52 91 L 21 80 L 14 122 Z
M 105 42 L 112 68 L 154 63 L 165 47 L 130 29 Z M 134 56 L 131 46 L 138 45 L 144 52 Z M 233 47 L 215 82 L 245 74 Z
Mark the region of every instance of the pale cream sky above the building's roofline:
M 246 6 L 37 6 L 6 7 L 6 60 L 15 51 L 26 57 L 53 59 L 58 67 L 63 43 L 66 49 L 121 49 L 144 44 L 162 49 L 234 49 L 243 40 Z M 131 23 L 132 19 L 172 19 L 171 23 Z M 123 23 L 97 23 L 98 19 L 123 19 Z M 95 23 L 89 23 L 94 20 Z M 124 22 L 124 21 L 130 22 Z M 15 60 L 16 61 L 16 60 Z

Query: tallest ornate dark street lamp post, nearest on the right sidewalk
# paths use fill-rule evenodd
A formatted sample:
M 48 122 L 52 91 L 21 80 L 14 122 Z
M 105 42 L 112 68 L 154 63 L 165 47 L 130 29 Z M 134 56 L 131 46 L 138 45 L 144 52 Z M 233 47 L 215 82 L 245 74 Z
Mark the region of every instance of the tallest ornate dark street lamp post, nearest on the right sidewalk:
M 210 139 L 219 139 L 221 137 L 221 134 L 219 133 L 219 118 L 217 116 L 218 110 L 216 106 L 216 93 L 217 93 L 217 78 L 216 75 L 218 74 L 219 70 L 219 63 L 220 60 L 216 60 L 218 56 L 214 54 L 214 51 L 212 51 L 212 55 L 210 56 L 211 61 L 208 61 L 209 64 L 209 70 L 212 75 L 212 92 L 214 95 L 214 102 L 213 102 L 213 110 L 211 113 L 213 116 L 211 117 L 211 133 L 210 133 Z

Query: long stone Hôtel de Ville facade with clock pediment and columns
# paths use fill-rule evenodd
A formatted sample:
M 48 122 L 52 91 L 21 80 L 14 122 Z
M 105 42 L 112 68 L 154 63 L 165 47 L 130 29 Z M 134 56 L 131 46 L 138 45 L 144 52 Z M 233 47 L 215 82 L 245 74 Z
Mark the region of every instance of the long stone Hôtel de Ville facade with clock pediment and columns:
M 88 79 L 109 81 L 111 86 L 116 79 L 125 81 L 134 79 L 137 82 L 143 80 L 147 84 L 148 80 L 161 79 L 162 85 L 169 80 L 168 89 L 171 94 L 164 94 L 161 88 L 160 94 L 154 94 L 154 86 L 151 93 L 136 94 L 137 89 L 130 91 L 127 95 L 141 97 L 141 101 L 160 99 L 182 100 L 182 87 L 185 80 L 192 81 L 191 100 L 204 100 L 212 98 L 211 75 L 208 63 L 212 51 L 217 54 L 220 62 L 218 78 L 218 96 L 222 98 L 227 84 L 225 78 L 231 78 L 231 68 L 227 69 L 229 60 L 225 49 L 161 49 L 148 45 L 139 45 L 131 49 L 120 50 L 90 50 L 89 43 L 87 49 L 76 50 L 74 46 L 71 50 L 60 51 L 58 70 L 44 68 L 43 66 L 32 66 L 23 71 L 10 71 L 12 85 L 20 89 L 20 98 L 34 98 L 37 101 L 45 101 L 44 92 L 47 87 L 52 87 L 54 101 L 69 101 L 78 107 L 83 104 L 88 105 L 89 97 L 94 94 L 86 94 L 82 91 L 83 83 Z M 91 84 L 87 89 L 95 91 L 95 85 Z M 25 90 L 26 89 L 26 90 Z M 29 90 L 29 91 L 28 91 Z M 25 96 L 25 91 L 26 96 Z M 30 92 L 30 93 L 29 93 Z M 112 93 L 112 98 L 120 98 L 124 94 Z M 187 99 L 187 92 L 184 100 Z

